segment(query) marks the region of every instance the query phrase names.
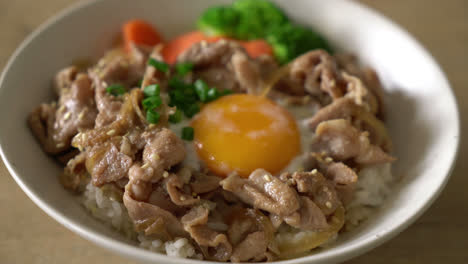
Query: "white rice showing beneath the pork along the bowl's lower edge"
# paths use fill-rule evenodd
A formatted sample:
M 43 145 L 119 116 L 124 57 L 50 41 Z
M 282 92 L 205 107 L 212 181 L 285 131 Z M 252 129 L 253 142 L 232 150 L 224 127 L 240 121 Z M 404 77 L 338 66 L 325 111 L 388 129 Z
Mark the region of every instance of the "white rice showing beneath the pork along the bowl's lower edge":
M 375 208 L 385 201 L 393 181 L 390 163 L 361 170 L 354 198 L 346 208 L 346 229 L 352 229 L 369 218 Z M 137 241 L 142 248 L 173 257 L 202 259 L 202 256 L 196 254 L 195 248 L 186 238 L 175 238 L 172 241 L 163 242 L 135 232 L 123 203 L 107 197 L 100 188 L 95 187 L 92 183 L 86 186 L 83 194 L 83 205 L 94 217 L 112 226 L 131 240 Z M 223 223 L 210 222 L 209 224 L 213 229 L 227 229 Z M 301 239 L 307 232 L 312 231 L 289 233 L 289 229 L 285 228 L 280 230 L 276 239 L 290 239 L 291 236 L 294 236 L 294 239 Z M 337 236 L 333 237 L 321 247 L 329 246 L 336 239 Z

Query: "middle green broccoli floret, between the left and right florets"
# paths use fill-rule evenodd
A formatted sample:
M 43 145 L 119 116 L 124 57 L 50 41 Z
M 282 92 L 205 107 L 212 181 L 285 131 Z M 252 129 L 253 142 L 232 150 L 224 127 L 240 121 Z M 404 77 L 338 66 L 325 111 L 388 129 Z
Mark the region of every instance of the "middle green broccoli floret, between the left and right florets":
M 232 7 L 239 13 L 238 39 L 264 38 L 271 28 L 289 22 L 281 9 L 266 0 L 237 0 Z

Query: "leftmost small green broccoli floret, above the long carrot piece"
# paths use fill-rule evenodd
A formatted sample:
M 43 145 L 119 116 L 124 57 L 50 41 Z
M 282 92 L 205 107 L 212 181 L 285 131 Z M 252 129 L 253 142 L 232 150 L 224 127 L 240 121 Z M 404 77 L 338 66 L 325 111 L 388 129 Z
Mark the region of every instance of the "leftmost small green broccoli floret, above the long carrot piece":
M 239 13 L 232 7 L 216 6 L 206 9 L 197 22 L 198 29 L 207 36 L 235 37 Z

